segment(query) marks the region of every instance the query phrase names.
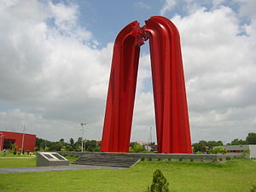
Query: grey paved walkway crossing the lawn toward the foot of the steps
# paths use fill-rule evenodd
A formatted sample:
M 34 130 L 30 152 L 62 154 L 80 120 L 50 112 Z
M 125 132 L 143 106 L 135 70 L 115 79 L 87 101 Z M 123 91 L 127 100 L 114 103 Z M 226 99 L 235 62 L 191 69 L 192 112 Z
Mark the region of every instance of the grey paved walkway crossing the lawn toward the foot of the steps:
M 52 172 L 52 171 L 68 171 L 68 170 L 83 170 L 83 169 L 124 169 L 123 167 L 113 166 L 84 166 L 73 165 L 69 166 L 37 166 L 37 167 L 21 167 L 21 168 L 0 168 L 1 173 L 11 172 Z

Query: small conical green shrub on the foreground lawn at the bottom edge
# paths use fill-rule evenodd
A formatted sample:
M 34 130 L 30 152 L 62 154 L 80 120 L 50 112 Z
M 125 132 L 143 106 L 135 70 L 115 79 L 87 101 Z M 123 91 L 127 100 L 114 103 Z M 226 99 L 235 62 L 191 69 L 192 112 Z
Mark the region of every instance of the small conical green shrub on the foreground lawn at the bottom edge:
M 169 192 L 169 183 L 163 173 L 157 169 L 153 173 L 153 181 L 151 186 L 148 186 L 148 192 Z

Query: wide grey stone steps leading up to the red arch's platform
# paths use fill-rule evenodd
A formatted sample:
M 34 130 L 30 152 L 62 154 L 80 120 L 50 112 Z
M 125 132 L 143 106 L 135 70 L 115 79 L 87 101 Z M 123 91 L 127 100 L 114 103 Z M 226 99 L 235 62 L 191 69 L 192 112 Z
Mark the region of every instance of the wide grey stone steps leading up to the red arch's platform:
M 116 166 L 130 167 L 136 164 L 140 157 L 135 154 L 125 153 L 104 153 L 104 152 L 88 152 L 73 164 L 87 166 Z

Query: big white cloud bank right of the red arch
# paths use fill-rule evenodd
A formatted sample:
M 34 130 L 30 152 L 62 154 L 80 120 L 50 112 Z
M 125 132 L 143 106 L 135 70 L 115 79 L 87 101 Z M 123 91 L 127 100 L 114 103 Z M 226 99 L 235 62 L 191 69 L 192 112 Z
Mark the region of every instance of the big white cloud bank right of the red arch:
M 194 141 L 230 142 L 230 136 L 244 138 L 248 131 L 255 131 L 255 118 L 248 115 L 248 111 L 256 113 L 255 33 L 238 35 L 240 21 L 227 7 L 201 8 L 172 20 L 183 43 Z

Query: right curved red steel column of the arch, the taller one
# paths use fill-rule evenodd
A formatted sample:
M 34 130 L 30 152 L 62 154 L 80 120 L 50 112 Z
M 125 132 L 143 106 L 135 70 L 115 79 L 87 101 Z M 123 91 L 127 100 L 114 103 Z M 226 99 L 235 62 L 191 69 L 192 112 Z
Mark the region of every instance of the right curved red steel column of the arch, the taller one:
M 177 27 L 164 17 L 146 20 L 154 89 L 159 153 L 191 154 L 189 115 L 180 38 Z

